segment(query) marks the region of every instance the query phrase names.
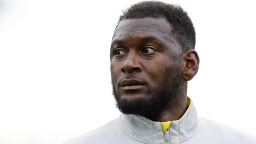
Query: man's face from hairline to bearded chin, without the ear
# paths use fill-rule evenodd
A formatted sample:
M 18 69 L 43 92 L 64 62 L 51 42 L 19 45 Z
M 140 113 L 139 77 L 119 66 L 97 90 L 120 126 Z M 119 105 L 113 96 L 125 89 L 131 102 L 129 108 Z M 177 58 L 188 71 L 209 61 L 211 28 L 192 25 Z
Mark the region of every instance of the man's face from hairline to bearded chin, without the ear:
M 164 18 L 122 20 L 110 49 L 117 107 L 154 118 L 179 92 L 181 48 Z

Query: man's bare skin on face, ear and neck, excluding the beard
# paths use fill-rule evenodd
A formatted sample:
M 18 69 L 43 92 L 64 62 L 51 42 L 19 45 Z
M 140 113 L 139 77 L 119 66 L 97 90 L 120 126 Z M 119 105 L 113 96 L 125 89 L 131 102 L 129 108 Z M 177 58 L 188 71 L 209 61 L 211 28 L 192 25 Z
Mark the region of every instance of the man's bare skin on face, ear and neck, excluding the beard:
M 121 99 L 148 97 L 163 87 L 166 75 L 179 66 L 181 79 L 176 97 L 152 121 L 174 121 L 187 110 L 187 82 L 199 67 L 195 50 L 182 53 L 165 18 L 124 19 L 111 43 L 111 77 Z

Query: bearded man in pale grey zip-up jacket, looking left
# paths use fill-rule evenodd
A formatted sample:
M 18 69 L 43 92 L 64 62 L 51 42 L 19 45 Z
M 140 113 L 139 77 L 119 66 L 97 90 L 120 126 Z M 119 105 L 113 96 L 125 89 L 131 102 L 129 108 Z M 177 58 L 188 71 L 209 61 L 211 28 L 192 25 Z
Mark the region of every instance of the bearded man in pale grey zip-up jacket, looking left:
M 113 93 L 121 116 L 66 144 L 256 143 L 249 134 L 198 118 L 187 82 L 199 67 L 193 23 L 180 6 L 132 5 L 111 48 Z

